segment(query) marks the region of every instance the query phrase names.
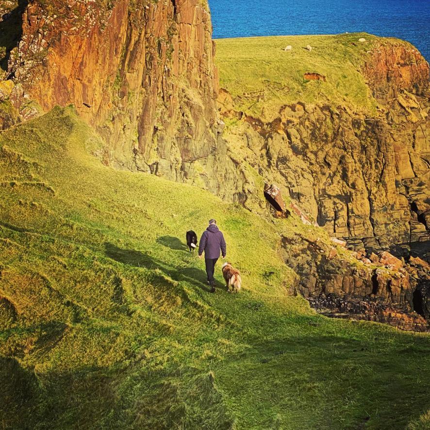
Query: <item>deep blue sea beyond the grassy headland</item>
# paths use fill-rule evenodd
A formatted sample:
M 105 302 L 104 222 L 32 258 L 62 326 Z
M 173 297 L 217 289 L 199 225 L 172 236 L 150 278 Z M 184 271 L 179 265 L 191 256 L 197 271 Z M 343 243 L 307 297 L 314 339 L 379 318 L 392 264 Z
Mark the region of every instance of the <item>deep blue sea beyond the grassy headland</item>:
M 366 32 L 430 60 L 430 0 L 209 0 L 214 38 Z

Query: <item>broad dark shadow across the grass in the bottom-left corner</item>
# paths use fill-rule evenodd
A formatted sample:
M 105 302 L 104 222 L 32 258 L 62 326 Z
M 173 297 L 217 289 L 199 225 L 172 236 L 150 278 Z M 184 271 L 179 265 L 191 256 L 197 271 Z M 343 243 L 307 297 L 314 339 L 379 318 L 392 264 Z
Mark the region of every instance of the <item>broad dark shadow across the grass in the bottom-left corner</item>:
M 38 375 L 0 357 L 0 417 L 5 429 L 230 429 L 211 373 L 127 366 L 80 365 L 78 350 L 65 370 Z M 145 359 L 145 363 L 148 359 Z M 145 383 L 135 383 L 144 379 Z M 188 410 L 198 411 L 192 416 Z M 78 424 L 77 424 L 78 423 Z M 160 423 L 163 423 L 160 426 Z

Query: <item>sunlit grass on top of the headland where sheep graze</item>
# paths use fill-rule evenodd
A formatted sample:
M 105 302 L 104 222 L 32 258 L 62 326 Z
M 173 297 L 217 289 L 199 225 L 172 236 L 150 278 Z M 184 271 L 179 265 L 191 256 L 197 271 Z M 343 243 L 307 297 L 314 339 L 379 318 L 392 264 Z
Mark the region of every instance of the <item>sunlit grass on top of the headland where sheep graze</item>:
M 365 43 L 358 42 L 361 37 Z M 215 59 L 220 87 L 232 95 L 237 112 L 268 122 L 282 106 L 301 101 L 374 115 L 377 102 L 361 66 L 368 52 L 384 44 L 407 42 L 367 33 L 217 39 Z M 293 49 L 284 51 L 288 45 Z M 319 73 L 326 82 L 306 80 L 305 73 Z

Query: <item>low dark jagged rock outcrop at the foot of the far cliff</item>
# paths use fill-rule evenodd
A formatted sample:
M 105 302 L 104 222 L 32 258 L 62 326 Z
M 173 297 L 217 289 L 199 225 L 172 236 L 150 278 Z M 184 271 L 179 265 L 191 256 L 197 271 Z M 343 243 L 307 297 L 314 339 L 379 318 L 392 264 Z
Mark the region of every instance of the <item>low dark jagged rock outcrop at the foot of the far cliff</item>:
M 282 247 L 285 263 L 298 274 L 290 293 L 304 296 L 317 312 L 402 330 L 430 331 L 426 262 L 411 258 L 410 264 L 415 266 L 403 265 L 382 252 L 372 263 L 358 252 L 341 253 L 318 238 L 309 240 L 299 233 L 283 236 Z

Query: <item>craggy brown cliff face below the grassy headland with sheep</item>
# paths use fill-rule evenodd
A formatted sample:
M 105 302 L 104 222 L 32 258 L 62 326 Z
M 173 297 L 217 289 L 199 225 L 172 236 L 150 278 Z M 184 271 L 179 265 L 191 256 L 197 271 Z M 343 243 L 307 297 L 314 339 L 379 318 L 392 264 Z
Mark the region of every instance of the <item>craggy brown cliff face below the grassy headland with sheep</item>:
M 373 116 L 299 101 L 264 122 L 234 110 L 225 90 L 220 112 L 240 119 L 242 137 L 231 134 L 248 163 L 331 235 L 361 247 L 428 240 L 429 65 L 416 50 L 379 46 L 363 74 L 384 104 Z

